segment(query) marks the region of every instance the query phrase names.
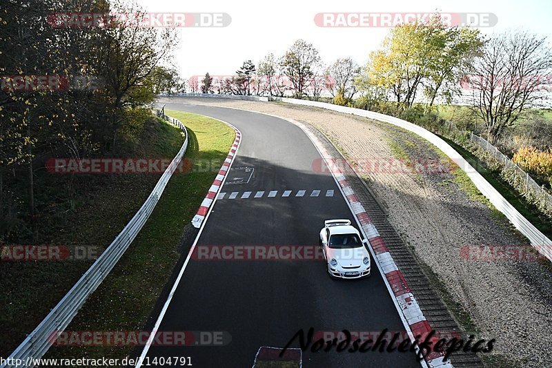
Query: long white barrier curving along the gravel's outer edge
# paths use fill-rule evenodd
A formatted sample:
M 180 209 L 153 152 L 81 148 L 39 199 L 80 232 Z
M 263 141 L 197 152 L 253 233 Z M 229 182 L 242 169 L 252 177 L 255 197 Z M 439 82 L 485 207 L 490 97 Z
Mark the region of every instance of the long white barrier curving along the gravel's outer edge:
M 326 104 L 324 102 L 308 101 L 304 99 L 290 99 L 286 97 L 272 97 L 271 100 L 288 102 L 289 104 L 314 106 L 318 108 L 325 108 L 326 110 L 333 110 L 339 113 L 346 113 L 352 115 L 358 115 L 362 117 L 368 117 L 370 119 L 380 120 L 404 128 L 411 131 L 420 137 L 428 140 L 433 145 L 437 146 L 445 155 L 449 156 L 462 170 L 469 176 L 473 184 L 479 189 L 479 191 L 489 199 L 489 201 L 495 206 L 495 208 L 504 213 L 508 220 L 520 231 L 526 238 L 529 239 L 531 245 L 534 246 L 542 255 L 552 261 L 552 241 L 541 233 L 531 222 L 529 222 L 521 213 L 519 213 L 502 195 L 485 180 L 480 173 L 478 173 L 473 166 L 471 166 L 465 159 L 457 153 L 454 148 L 449 146 L 443 139 L 437 137 L 437 135 L 431 133 L 429 130 L 417 126 L 406 120 L 398 119 L 397 117 L 391 117 L 388 115 L 374 113 L 373 111 L 361 110 L 359 108 L 351 108 L 346 106 L 338 106 L 333 104 Z

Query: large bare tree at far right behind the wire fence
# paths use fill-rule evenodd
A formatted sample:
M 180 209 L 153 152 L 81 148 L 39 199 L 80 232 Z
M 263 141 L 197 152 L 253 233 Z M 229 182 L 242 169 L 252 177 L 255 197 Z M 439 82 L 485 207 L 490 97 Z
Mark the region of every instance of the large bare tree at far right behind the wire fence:
M 525 31 L 506 32 L 486 42 L 477 59 L 473 107 L 483 120 L 489 142 L 496 142 L 530 108 L 538 106 L 550 83 L 551 50 L 546 37 Z

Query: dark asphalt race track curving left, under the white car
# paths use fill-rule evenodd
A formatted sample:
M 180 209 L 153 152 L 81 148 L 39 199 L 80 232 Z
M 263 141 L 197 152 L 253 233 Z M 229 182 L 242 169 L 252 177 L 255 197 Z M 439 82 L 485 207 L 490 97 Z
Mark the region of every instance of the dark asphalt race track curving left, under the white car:
M 235 170 L 221 188 L 226 195 L 215 202 L 198 246 L 317 246 L 324 220 L 348 218 L 355 224 L 331 174 L 313 170 L 320 155 L 297 126 L 229 108 L 167 104 L 166 109 L 215 117 L 242 132 Z M 304 195 L 297 197 L 298 191 Z M 251 193 L 242 198 L 245 192 Z M 259 347 L 284 347 L 299 329 L 311 327 L 404 331 L 373 261 L 369 278 L 332 280 L 321 260 L 190 260 L 159 329 L 225 331 L 231 341 L 152 345 L 147 356 L 189 356 L 200 368 L 251 367 Z M 298 340 L 292 346 L 299 347 Z M 412 353 L 337 353 L 335 348 L 305 351 L 303 362 L 305 368 L 420 367 Z

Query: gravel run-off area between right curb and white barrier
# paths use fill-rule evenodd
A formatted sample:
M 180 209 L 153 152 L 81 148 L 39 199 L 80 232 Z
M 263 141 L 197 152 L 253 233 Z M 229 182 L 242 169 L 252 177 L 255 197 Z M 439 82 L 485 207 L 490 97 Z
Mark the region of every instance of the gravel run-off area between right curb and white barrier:
M 350 162 L 359 164 L 357 171 L 388 212 L 397 233 L 437 275 L 440 289 L 469 313 L 477 338 L 496 339 L 492 354 L 502 357 L 502 362 L 505 358 L 507 365 L 550 366 L 552 268 L 533 257 L 472 259 L 478 254 L 489 259 L 489 252 L 501 250 L 501 246 L 529 244 L 506 217 L 497 215 L 482 196 L 470 193 L 462 184 L 465 180 L 453 175 L 453 164 L 451 170 L 436 173 L 364 166 L 393 157 L 398 162 L 438 161 L 443 155 L 435 146 L 391 124 L 307 106 L 210 98 L 164 101 L 243 108 L 295 119 L 321 130 Z M 485 253 L 475 252 L 479 246 L 486 246 Z

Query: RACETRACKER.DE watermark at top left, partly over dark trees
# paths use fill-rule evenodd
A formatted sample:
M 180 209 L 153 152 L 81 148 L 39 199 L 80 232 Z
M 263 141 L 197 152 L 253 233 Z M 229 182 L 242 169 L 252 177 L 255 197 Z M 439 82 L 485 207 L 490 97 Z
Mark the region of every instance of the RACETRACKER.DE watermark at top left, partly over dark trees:
M 47 21 L 53 28 L 221 28 L 232 17 L 226 12 L 56 12 Z

